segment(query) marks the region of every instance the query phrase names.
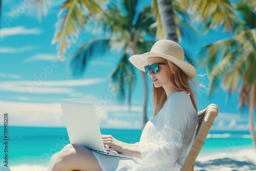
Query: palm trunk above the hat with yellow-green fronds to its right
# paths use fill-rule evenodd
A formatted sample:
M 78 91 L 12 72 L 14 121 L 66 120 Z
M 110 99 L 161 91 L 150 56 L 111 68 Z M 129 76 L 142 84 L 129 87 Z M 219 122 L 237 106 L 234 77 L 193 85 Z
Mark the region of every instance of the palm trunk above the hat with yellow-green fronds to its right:
M 175 33 L 179 33 L 177 27 L 180 19 L 177 12 L 182 14 L 183 18 L 198 20 L 205 30 L 224 25 L 225 30 L 231 31 L 233 21 L 237 18 L 234 13 L 234 5 L 228 0 L 153 0 L 152 7 L 159 23 L 158 36 L 174 41 L 176 41 Z M 161 30 L 164 31 L 164 34 Z

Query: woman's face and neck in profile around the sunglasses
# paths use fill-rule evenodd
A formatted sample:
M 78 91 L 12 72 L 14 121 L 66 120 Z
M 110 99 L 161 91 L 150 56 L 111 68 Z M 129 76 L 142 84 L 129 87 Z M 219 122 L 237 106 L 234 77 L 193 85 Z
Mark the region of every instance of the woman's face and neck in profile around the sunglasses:
M 148 65 L 152 65 L 153 63 L 162 63 L 163 61 L 159 57 L 150 57 L 147 59 Z M 152 79 L 152 82 L 155 86 L 155 88 L 163 87 L 165 85 L 168 85 L 169 82 L 166 79 L 166 76 L 163 72 L 163 67 L 167 67 L 166 65 L 159 65 L 159 72 L 153 73 L 152 70 L 150 70 L 149 76 Z

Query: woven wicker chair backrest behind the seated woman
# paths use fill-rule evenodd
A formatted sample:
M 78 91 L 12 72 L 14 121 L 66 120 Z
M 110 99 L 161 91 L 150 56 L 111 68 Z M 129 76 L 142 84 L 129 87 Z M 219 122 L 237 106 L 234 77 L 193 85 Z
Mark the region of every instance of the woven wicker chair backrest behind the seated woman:
M 216 104 L 210 104 L 208 107 L 200 112 L 198 112 L 198 125 L 197 133 L 194 143 L 188 153 L 181 167 L 181 171 L 191 171 L 194 170 L 193 166 L 196 158 L 204 144 L 204 141 L 210 131 L 211 125 L 214 123 L 215 118 L 218 116 L 218 106 Z

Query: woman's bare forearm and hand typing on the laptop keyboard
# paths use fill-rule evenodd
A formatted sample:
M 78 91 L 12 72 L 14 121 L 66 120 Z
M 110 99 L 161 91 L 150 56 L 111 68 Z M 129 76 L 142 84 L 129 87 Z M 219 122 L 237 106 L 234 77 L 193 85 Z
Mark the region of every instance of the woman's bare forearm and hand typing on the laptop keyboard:
M 118 153 L 125 153 L 129 156 L 141 159 L 139 143 L 129 144 L 122 141 L 118 141 L 111 135 L 102 135 L 104 145 L 115 149 Z

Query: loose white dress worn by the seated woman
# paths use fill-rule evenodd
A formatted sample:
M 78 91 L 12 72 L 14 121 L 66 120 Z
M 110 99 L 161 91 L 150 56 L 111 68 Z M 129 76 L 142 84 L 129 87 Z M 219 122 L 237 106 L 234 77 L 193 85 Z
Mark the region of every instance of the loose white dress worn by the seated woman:
M 197 112 L 189 93 L 172 94 L 141 134 L 142 159 L 94 153 L 103 171 L 180 170 L 196 135 Z

